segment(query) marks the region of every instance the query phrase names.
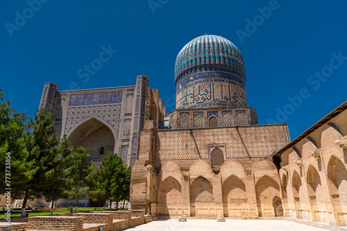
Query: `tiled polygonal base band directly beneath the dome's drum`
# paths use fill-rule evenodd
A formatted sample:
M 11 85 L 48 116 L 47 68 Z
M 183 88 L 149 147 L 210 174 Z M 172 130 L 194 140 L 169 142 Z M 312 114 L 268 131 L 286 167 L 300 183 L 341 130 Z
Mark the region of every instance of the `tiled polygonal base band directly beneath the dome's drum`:
M 196 118 L 200 113 L 201 117 Z M 170 126 L 173 129 L 208 127 L 208 120 L 215 116 L 218 127 L 232 127 L 257 124 L 257 112 L 251 107 L 218 107 L 208 109 L 178 109 L 169 114 Z M 253 118 L 251 118 L 253 116 Z M 196 123 L 197 122 L 197 123 Z

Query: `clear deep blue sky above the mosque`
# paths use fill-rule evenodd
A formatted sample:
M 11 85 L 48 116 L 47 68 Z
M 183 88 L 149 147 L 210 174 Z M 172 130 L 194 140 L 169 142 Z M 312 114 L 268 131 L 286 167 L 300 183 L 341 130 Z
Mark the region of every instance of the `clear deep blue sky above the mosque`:
M 0 87 L 30 116 L 45 82 L 92 89 L 135 85 L 137 75 L 172 111 L 176 55 L 204 34 L 241 50 L 248 105 L 260 124 L 287 122 L 291 140 L 347 100 L 346 1 L 38 1 L 0 3 Z M 101 46 L 117 53 L 78 77 Z

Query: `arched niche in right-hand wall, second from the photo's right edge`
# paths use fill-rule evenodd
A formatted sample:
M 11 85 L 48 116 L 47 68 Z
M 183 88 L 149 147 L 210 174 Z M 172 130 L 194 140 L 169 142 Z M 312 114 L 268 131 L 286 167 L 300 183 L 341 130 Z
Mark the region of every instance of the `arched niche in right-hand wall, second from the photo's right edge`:
M 323 202 L 324 192 L 321 184 L 321 177 L 316 168 L 310 165 L 307 170 L 308 193 L 311 202 Z

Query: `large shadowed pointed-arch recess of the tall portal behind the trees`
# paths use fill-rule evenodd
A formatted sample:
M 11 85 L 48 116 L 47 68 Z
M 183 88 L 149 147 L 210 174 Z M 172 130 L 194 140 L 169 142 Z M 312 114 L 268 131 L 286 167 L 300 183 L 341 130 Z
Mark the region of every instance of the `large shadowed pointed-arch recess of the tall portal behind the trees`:
M 103 156 L 115 151 L 115 137 L 112 131 L 96 118 L 91 118 L 76 127 L 69 134 L 69 140 L 75 149 L 78 145 L 87 149 L 90 160 L 95 162 L 96 168 L 99 168 Z

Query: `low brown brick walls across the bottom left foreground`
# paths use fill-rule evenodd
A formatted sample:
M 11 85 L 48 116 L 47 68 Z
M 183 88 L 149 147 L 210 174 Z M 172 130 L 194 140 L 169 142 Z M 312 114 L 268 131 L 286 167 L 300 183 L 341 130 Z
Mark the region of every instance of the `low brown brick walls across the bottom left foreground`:
M 0 231 L 71 230 L 71 231 L 119 231 L 153 221 L 144 210 L 102 211 L 77 213 L 72 216 L 30 216 L 28 223 L 0 224 Z

